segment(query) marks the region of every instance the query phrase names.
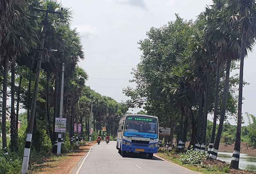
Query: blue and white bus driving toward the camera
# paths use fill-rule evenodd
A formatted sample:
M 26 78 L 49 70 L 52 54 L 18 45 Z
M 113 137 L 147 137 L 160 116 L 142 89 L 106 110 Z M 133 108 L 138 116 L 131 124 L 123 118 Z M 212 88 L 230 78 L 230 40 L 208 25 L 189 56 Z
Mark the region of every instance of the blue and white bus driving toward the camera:
M 119 121 L 116 149 L 125 156 L 127 152 L 143 152 L 153 158 L 158 149 L 158 118 L 148 115 L 125 115 Z

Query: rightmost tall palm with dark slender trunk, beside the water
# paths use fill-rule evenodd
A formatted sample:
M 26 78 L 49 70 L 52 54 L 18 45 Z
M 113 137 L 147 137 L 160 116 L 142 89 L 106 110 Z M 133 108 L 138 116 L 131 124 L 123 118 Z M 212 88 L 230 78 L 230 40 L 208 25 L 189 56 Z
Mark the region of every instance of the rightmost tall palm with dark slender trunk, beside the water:
M 238 96 L 238 117 L 235 147 L 231 159 L 230 169 L 239 168 L 240 144 L 241 144 L 241 120 L 242 120 L 242 91 L 243 91 L 243 65 L 247 50 L 255 43 L 255 0 L 241 0 L 236 3 L 229 2 L 227 10 L 229 14 L 237 14 L 241 23 L 241 52 L 240 52 L 240 73 L 239 73 L 239 96 Z M 232 15 L 233 16 L 233 15 Z M 234 19 L 234 18 L 232 18 Z

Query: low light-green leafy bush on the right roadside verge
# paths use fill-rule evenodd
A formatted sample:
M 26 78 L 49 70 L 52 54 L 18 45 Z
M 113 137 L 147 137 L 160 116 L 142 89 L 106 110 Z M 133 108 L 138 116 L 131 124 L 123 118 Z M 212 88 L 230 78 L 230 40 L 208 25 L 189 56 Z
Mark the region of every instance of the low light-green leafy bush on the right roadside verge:
M 181 161 L 183 164 L 202 164 L 206 160 L 206 154 L 204 152 L 188 150 L 181 155 Z

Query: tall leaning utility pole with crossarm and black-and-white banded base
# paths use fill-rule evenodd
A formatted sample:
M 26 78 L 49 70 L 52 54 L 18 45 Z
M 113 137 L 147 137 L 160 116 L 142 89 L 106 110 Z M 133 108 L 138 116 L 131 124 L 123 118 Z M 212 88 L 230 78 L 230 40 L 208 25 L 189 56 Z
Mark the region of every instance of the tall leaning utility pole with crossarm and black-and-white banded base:
M 44 12 L 46 14 L 45 14 L 45 18 L 44 18 L 44 28 L 42 31 L 42 37 L 41 37 L 41 42 L 40 42 L 40 47 L 39 47 L 39 55 L 38 55 L 38 62 L 37 62 L 37 68 L 36 68 L 36 81 L 35 81 L 35 85 L 34 85 L 33 101 L 36 101 L 36 99 L 37 99 L 39 76 L 40 76 L 41 64 L 42 64 L 42 59 L 43 59 L 43 54 L 42 54 L 42 51 L 40 51 L 40 50 L 44 50 L 45 27 L 47 24 L 48 13 L 61 14 L 60 12 L 54 12 L 54 11 L 50 11 L 48 9 L 49 9 L 48 6 L 47 6 L 47 10 L 34 9 L 35 11 Z M 23 155 L 23 160 L 22 160 L 22 169 L 21 169 L 22 174 L 26 174 L 28 171 L 28 162 L 29 162 L 29 156 L 30 156 L 30 147 L 31 147 L 31 141 L 32 141 L 36 102 L 32 103 L 31 108 L 32 109 L 31 109 L 30 119 L 29 119 L 29 124 L 28 124 L 28 134 L 26 137 L 24 155 Z

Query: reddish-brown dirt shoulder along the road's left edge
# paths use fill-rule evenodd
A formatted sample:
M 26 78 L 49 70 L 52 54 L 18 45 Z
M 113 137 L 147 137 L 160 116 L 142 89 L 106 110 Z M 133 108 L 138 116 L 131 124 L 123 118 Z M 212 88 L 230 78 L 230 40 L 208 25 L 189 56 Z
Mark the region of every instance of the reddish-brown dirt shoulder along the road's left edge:
M 80 146 L 73 152 L 45 159 L 44 163 L 34 166 L 35 169 L 31 174 L 71 174 L 94 144 L 95 142 L 91 142 L 86 146 Z

